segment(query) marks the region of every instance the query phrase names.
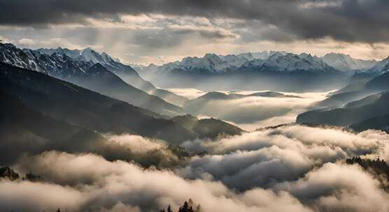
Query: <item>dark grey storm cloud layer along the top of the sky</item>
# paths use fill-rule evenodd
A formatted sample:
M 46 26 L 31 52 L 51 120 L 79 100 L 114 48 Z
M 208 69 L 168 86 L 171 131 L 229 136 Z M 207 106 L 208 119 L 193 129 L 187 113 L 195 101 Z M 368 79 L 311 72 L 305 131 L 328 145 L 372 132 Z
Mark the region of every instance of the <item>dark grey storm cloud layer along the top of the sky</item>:
M 331 37 L 348 42 L 389 41 L 387 0 L 0 0 L 0 8 L 0 24 L 8 25 L 85 23 L 86 17 L 118 20 L 120 14 L 162 13 L 261 20 L 301 39 Z M 274 39 L 283 40 L 283 36 Z

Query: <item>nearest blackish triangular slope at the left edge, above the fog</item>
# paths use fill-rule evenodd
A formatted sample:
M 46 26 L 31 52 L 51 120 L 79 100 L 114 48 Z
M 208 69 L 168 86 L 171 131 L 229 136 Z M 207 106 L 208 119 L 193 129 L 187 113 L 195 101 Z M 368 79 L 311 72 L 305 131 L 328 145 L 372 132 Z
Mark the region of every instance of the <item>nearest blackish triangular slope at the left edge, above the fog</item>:
M 0 96 L 3 100 L 0 105 L 0 162 L 3 165 L 15 162 L 22 155 L 53 149 L 80 151 L 79 147 L 85 143 L 105 140 L 97 132 L 37 112 L 21 100 L 4 93 L 3 89 Z

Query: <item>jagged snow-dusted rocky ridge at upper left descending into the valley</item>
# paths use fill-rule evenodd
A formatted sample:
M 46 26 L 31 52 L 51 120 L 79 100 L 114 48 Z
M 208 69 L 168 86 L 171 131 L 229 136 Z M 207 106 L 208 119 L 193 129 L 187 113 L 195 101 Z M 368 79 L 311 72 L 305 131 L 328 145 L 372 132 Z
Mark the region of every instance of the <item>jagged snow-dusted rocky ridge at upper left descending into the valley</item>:
M 168 116 L 181 114 L 182 109 L 180 107 L 136 89 L 136 87 L 127 84 L 120 79 L 120 77 L 108 71 L 105 68 L 106 66 L 111 68 L 113 68 L 114 65 L 118 67 L 124 66 L 120 65 L 120 63 L 116 63 L 113 59 L 111 59 L 111 57 L 104 56 L 105 54 L 102 54 L 101 56 L 93 50 L 87 50 L 86 52 L 90 53 L 84 56 L 83 52 L 80 55 L 82 59 L 77 61 L 76 59 L 72 59 L 70 56 L 67 56 L 67 54 L 63 54 L 64 52 L 71 52 L 71 50 L 57 49 L 52 52 L 51 55 L 48 55 L 43 54 L 38 50 L 33 51 L 25 49 L 22 51 L 11 44 L 0 44 L 0 55 L 3 55 L 0 59 L 10 65 L 36 70 L 41 73 L 46 73 L 52 77 L 64 79 L 81 86 L 87 86 L 88 89 L 99 91 L 105 95 L 112 96 L 113 98 L 120 97 L 120 100 L 125 100 L 132 105 L 144 107 L 160 114 Z M 70 55 L 76 56 L 76 53 L 73 52 Z M 11 61 L 8 58 L 13 60 Z M 92 68 L 93 66 L 98 66 L 97 64 L 100 64 L 93 63 L 93 61 L 98 60 L 101 60 L 102 63 L 106 64 L 104 67 L 100 65 L 99 69 L 101 70 Z M 90 71 L 92 71 L 92 73 L 88 73 Z M 138 76 L 134 70 L 133 72 L 136 76 Z M 139 76 L 138 78 L 140 79 Z

